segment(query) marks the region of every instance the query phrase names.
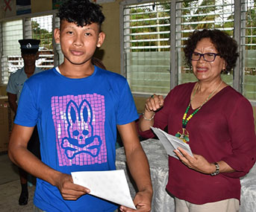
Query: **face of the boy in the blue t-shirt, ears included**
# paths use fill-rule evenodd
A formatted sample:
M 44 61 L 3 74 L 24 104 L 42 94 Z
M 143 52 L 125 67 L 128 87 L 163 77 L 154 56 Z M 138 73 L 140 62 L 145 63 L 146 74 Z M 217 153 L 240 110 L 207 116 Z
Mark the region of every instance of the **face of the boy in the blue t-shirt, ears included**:
M 54 30 L 54 39 L 60 43 L 65 62 L 83 65 L 104 42 L 104 33 L 99 32 L 96 23 L 81 28 L 75 23 L 61 21 L 60 29 Z

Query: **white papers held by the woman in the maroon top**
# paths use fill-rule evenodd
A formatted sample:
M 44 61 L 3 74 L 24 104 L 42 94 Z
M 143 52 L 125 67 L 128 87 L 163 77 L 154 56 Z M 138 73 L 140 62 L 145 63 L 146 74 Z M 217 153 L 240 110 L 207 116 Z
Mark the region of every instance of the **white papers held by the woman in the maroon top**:
M 184 143 L 180 138 L 175 137 L 174 135 L 169 135 L 167 132 L 164 132 L 162 129 L 151 127 L 153 132 L 157 135 L 160 142 L 163 144 L 164 149 L 167 154 L 178 159 L 178 156 L 175 155 L 173 150 L 177 150 L 178 147 L 181 147 L 187 153 L 189 153 L 193 157 L 193 153 L 190 150 L 190 145 Z M 181 153 L 182 155 L 182 153 Z

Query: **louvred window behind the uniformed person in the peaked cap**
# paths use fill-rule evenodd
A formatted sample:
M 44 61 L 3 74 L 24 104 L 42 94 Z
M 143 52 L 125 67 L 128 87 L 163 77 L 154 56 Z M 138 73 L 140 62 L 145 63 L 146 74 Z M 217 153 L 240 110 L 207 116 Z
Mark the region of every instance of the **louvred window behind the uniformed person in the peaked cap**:
M 7 84 L 10 73 L 22 68 L 19 39 L 40 39 L 40 58 L 36 65 L 42 69 L 54 67 L 54 45 L 52 42 L 53 16 L 24 16 L 0 22 L 1 28 L 1 84 Z

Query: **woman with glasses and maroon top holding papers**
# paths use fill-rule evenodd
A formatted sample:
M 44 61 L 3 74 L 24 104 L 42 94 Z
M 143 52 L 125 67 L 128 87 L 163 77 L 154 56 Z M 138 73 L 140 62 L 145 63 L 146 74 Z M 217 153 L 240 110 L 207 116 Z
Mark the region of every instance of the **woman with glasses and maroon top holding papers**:
M 180 160 L 169 157 L 166 190 L 175 196 L 175 211 L 239 211 L 240 177 L 255 164 L 256 138 L 252 106 L 222 81 L 234 68 L 237 43 L 220 30 L 196 30 L 184 48 L 197 78 L 172 89 L 166 98 L 146 100 L 139 131 L 150 126 L 181 138 L 193 157 L 178 148 Z

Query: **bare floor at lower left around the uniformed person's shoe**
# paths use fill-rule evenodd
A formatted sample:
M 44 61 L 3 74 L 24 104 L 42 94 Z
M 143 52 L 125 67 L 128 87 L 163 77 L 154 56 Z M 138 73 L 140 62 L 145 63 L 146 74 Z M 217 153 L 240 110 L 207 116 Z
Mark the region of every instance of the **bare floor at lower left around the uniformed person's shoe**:
M 0 155 L 0 211 L 33 211 L 34 186 L 28 187 L 28 205 L 18 203 L 20 194 L 19 173 L 17 167 L 10 161 L 7 154 Z

